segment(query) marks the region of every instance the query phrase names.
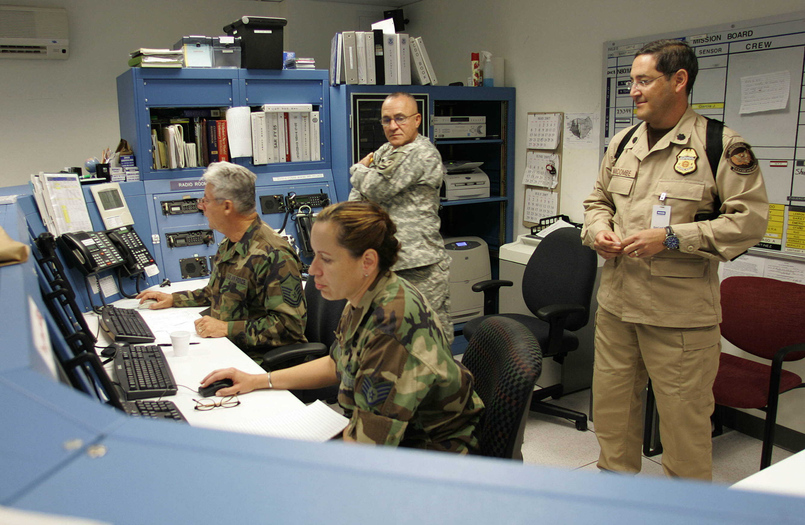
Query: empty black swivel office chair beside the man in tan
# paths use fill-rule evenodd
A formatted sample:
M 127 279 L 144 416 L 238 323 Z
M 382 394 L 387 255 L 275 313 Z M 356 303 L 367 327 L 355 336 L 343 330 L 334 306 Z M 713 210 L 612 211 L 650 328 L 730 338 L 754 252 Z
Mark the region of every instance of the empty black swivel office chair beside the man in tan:
M 581 244 L 578 229 L 557 229 L 537 245 L 522 276 L 522 298 L 535 317 L 518 313 L 497 316 L 521 322 L 537 338 L 543 359 L 553 358 L 562 363 L 568 352 L 579 347 L 579 338 L 574 332 L 587 325 L 596 267 L 596 253 Z M 513 284 L 501 279 L 473 284 L 473 291 L 484 292 L 485 315 L 464 325 L 464 337 L 468 341 L 478 326 L 494 314 L 500 287 Z M 561 383 L 535 391 L 530 409 L 573 420 L 577 429 L 587 430 L 587 415 L 543 403 L 543 399 L 559 399 L 563 394 Z

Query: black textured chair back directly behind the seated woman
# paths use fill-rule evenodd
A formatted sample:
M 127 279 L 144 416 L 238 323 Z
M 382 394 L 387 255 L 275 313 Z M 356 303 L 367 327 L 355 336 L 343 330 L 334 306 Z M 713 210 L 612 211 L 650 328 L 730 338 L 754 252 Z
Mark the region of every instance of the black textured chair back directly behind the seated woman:
M 539 343 L 517 321 L 492 316 L 478 326 L 461 362 L 486 407 L 478 432 L 481 455 L 522 461 L 526 409 L 543 368 Z

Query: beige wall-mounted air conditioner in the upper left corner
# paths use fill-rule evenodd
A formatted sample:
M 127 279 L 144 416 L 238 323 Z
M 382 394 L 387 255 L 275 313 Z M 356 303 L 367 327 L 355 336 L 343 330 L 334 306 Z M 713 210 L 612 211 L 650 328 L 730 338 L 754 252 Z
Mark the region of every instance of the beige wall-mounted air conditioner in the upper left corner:
M 0 58 L 67 60 L 69 44 L 67 10 L 0 6 Z

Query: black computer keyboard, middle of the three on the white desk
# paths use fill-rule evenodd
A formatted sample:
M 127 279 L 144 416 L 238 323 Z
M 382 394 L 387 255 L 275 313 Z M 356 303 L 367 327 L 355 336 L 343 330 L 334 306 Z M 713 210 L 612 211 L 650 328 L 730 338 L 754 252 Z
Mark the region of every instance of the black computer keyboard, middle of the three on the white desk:
M 176 395 L 176 382 L 159 346 L 118 349 L 114 356 L 114 371 L 126 401 Z

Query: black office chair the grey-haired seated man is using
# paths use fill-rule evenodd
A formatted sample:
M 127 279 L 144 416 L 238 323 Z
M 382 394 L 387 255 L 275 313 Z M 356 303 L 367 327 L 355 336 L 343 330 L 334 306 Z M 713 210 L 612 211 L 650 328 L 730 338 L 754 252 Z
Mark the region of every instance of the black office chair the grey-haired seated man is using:
M 308 304 L 308 322 L 305 325 L 304 335 L 308 342 L 270 349 L 262 356 L 262 367 L 265 370 L 279 370 L 325 356 L 330 350 L 332 341 L 336 340 L 336 328 L 347 300 L 324 299 L 312 279 L 308 280 L 304 287 L 304 296 Z M 311 403 L 316 399 L 335 402 L 338 386 L 291 392 L 304 403 Z

